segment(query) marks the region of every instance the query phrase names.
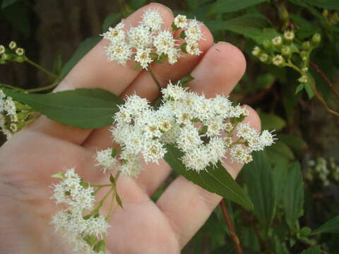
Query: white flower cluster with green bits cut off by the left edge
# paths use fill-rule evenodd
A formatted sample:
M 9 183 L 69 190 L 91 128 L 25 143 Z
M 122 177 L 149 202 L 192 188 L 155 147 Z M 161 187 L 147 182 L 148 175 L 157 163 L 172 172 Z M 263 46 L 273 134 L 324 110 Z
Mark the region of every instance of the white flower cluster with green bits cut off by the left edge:
M 9 140 L 13 133 L 20 131 L 28 122 L 28 118 L 33 111 L 27 105 L 14 102 L 0 90 L 0 130 Z

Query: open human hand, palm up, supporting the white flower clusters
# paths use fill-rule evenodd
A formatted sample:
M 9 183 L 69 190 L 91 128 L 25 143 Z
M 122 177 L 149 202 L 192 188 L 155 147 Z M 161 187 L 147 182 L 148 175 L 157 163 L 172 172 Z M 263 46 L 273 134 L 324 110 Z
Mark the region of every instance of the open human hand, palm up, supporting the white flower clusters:
M 165 25 L 173 20 L 172 11 L 160 4 L 139 9 L 124 21 L 126 28 L 136 25 L 147 8 L 157 9 Z M 245 59 L 236 47 L 225 42 L 213 44 L 208 28 L 200 43 L 201 56 L 187 55 L 175 65 L 155 64 L 153 71 L 162 85 L 179 80 L 191 72 L 191 90 L 206 97 L 228 95 L 245 70 Z M 153 101 L 158 88 L 149 73 L 135 71 L 107 62 L 102 40 L 92 49 L 57 90 L 100 87 L 124 97 L 136 91 Z M 251 126 L 260 128 L 254 110 L 249 109 Z M 105 183 L 107 177 L 94 167 L 98 149 L 112 146 L 109 128 L 82 130 L 40 117 L 4 144 L 0 150 L 0 252 L 1 253 L 71 253 L 57 236 L 49 221 L 57 211 L 50 197 L 51 175 L 64 167 L 76 167 L 85 181 Z M 224 162 L 235 178 L 241 164 Z M 117 190 L 124 209 L 116 207 L 107 234 L 107 252 L 179 253 L 204 224 L 221 198 L 194 185 L 182 176 L 171 183 L 154 203 L 150 199 L 165 181 L 171 169 L 165 162 L 145 165 L 138 179 L 120 176 Z

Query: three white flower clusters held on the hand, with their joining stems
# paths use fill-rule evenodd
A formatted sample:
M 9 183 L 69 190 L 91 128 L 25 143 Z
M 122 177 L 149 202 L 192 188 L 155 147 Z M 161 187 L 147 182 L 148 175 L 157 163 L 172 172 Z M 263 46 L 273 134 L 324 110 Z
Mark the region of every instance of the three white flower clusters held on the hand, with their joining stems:
M 137 178 L 143 162 L 158 164 L 165 159 L 171 166 L 179 164 L 184 176 L 193 174 L 200 178 L 196 181 L 186 176 L 197 184 L 204 181 L 203 174 L 217 171 L 231 181 L 232 177 L 221 166 L 222 159 L 228 157 L 231 162 L 246 164 L 252 161 L 251 152 L 274 143 L 274 135 L 269 131 L 258 133 L 249 123 L 242 123 L 249 114 L 246 107 L 233 104 L 222 95 L 208 99 L 189 91 L 191 76 L 186 81 L 175 84 L 169 81 L 166 87 L 160 87 L 151 63 L 166 60 L 175 64 L 184 53 L 201 54 L 198 41 L 203 39 L 198 21 L 186 16 L 174 18 L 171 29 L 163 28 L 163 24 L 160 13 L 150 9 L 143 13 L 137 27 L 125 31 L 122 20 L 102 35 L 109 40 L 105 47 L 107 59 L 123 66 L 133 60 L 137 68 L 149 71 L 160 88 L 160 99 L 152 106 L 147 99 L 134 94 L 119 104 L 110 129 L 112 143 L 117 145 L 98 150 L 95 155 L 95 166 L 104 174 L 108 171 L 115 174 L 115 177 L 110 174 L 110 184 L 85 183 L 75 169 L 54 175 L 61 182 L 54 186 L 53 198 L 67 208 L 54 215 L 52 224 L 78 253 L 105 253 L 105 236 L 109 234 L 114 204 L 110 202 L 109 213 L 105 215 L 100 214 L 100 208 L 109 196 L 122 207 L 115 185 L 119 175 Z M 218 177 L 216 180 L 220 181 Z M 97 192 L 106 187 L 109 191 L 104 198 L 95 202 Z M 213 188 L 207 187 L 222 195 L 223 191 Z

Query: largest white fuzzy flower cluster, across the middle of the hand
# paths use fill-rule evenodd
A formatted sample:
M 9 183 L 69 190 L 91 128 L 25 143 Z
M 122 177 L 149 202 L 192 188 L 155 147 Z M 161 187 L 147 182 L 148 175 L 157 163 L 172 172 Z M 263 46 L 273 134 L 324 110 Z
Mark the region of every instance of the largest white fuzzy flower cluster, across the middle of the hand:
M 137 176 L 141 159 L 157 163 L 166 154 L 167 143 L 184 152 L 181 159 L 187 169 L 201 171 L 227 153 L 233 162 L 251 162 L 252 151 L 274 142 L 269 131 L 260 134 L 249 123 L 241 123 L 248 110 L 232 106 L 227 97 L 207 99 L 180 83 L 169 83 L 162 97 L 163 104 L 154 109 L 146 99 L 131 95 L 114 116 L 112 134 L 121 147 L 117 154 L 121 174 Z

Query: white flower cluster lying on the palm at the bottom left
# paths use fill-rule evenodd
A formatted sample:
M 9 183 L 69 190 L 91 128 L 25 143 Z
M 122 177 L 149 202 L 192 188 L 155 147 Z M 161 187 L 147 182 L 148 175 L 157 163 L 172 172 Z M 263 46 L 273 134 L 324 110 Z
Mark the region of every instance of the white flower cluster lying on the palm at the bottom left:
M 84 185 L 81 177 L 74 169 L 62 174 L 62 181 L 54 187 L 54 198 L 59 203 L 67 205 L 52 217 L 52 224 L 64 238 L 71 243 L 76 253 L 96 253 L 85 241 L 85 237 L 103 238 L 107 233 L 108 224 L 102 214 L 85 217 L 83 212 L 93 210 L 95 204 L 94 189 Z

